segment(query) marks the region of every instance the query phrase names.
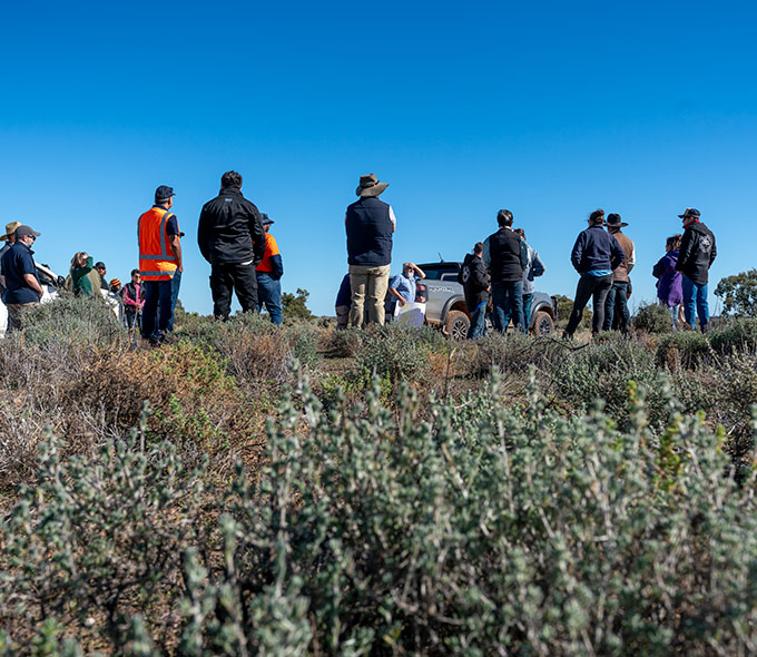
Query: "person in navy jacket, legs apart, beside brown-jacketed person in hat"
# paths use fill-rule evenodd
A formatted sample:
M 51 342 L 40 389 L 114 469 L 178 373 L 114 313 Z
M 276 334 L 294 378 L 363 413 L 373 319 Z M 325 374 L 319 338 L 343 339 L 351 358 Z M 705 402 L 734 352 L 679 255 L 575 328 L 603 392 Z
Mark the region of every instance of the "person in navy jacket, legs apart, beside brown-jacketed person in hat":
M 591 334 L 597 335 L 604 324 L 604 301 L 612 287 L 612 272 L 626 259 L 615 235 L 603 228 L 604 210 L 597 209 L 589 216 L 589 227 L 578 234 L 570 262 L 581 274 L 576 287 L 573 310 L 562 337 L 572 337 L 583 315 L 583 308 L 593 297 L 594 314 L 591 322 Z

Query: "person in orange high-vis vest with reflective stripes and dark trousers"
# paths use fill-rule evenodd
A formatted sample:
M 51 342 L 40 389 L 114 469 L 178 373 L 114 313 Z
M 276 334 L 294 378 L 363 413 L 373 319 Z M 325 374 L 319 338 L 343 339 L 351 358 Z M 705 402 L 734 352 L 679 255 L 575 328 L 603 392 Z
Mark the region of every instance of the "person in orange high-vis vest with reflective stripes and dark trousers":
M 145 286 L 142 337 L 160 345 L 173 314 L 171 280 L 184 272 L 179 224 L 170 212 L 174 189 L 160 185 L 155 190 L 155 205 L 137 222 L 139 237 L 139 274 Z

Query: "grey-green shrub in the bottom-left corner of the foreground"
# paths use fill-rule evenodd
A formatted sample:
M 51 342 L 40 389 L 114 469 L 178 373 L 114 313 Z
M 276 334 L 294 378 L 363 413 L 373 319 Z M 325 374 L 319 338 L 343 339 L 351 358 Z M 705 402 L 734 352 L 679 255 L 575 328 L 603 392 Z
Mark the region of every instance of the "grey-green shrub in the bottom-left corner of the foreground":
M 6 622 L 37 618 L 43 630 L 52 616 L 86 633 L 94 616 L 120 645 L 135 609 L 175 600 L 203 471 L 186 472 L 171 444 L 146 447 L 145 429 L 146 416 L 128 441 L 67 461 L 48 437 L 36 483 L 0 529 Z

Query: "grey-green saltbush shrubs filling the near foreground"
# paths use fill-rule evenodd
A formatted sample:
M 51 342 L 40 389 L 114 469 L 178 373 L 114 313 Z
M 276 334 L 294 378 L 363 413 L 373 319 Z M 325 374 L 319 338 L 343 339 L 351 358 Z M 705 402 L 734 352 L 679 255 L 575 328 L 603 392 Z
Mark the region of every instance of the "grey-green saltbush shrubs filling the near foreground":
M 268 424 L 260 475 L 239 469 L 216 497 L 217 532 L 193 532 L 194 480 L 159 453 L 43 460 L 2 530 L 0 581 L 35 612 L 6 605 L 4 620 L 52 645 L 96 600 L 77 639 L 140 655 L 750 654 L 757 482 L 750 468 L 737 484 L 722 434 L 675 410 L 656 432 L 639 396 L 619 430 L 548 410 L 533 382 L 518 408 L 486 385 L 430 421 L 405 384 L 396 414 L 373 391 L 323 412 L 302 386 Z M 179 555 L 176 588 L 145 605 Z M 55 594 L 48 611 L 26 578 Z

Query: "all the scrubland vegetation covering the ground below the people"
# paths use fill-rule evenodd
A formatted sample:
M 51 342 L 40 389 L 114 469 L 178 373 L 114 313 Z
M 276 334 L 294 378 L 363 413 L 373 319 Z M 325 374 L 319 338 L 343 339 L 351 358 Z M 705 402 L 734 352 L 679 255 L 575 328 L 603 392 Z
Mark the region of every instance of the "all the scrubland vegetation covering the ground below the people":
M 0 343 L 0 655 L 753 655 L 757 320 L 631 340 L 61 300 Z

